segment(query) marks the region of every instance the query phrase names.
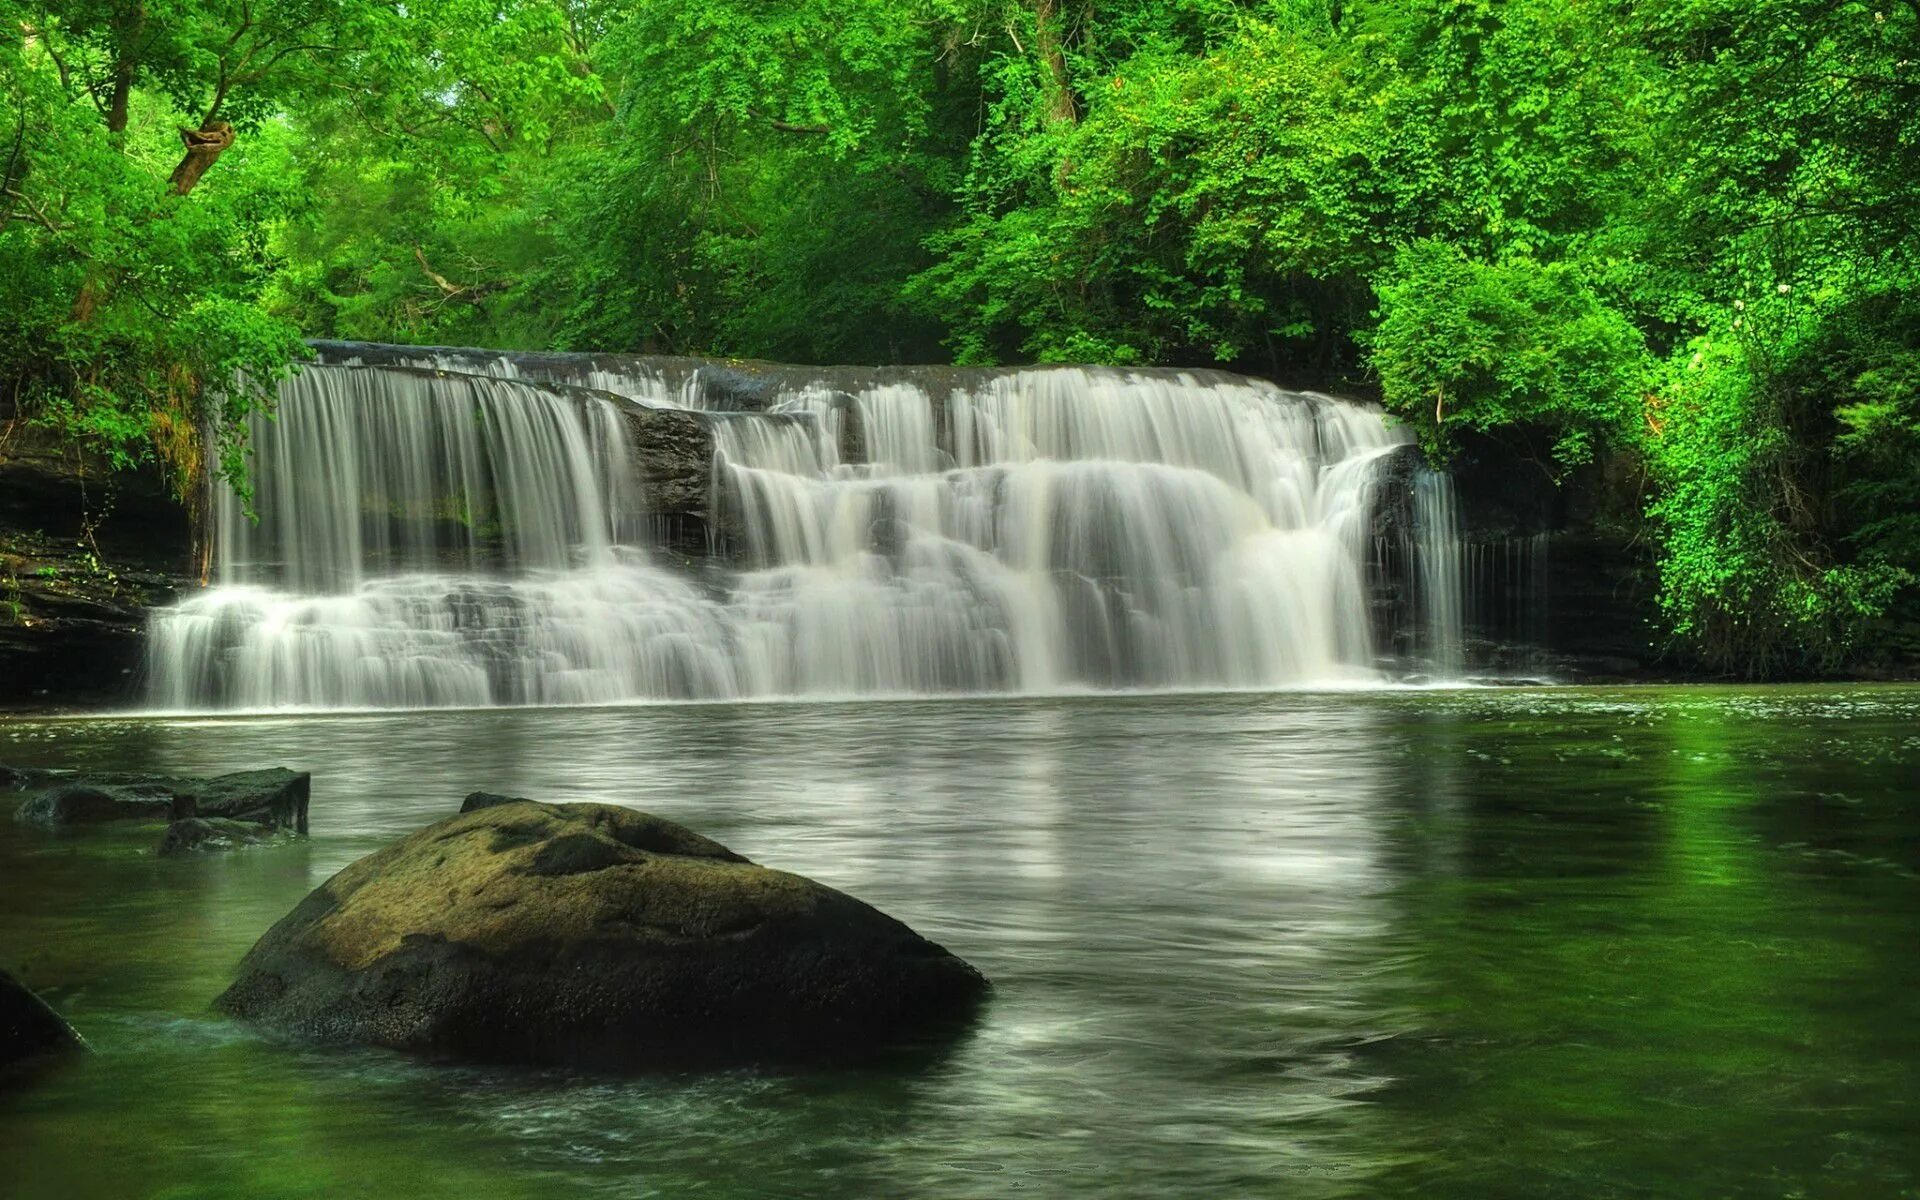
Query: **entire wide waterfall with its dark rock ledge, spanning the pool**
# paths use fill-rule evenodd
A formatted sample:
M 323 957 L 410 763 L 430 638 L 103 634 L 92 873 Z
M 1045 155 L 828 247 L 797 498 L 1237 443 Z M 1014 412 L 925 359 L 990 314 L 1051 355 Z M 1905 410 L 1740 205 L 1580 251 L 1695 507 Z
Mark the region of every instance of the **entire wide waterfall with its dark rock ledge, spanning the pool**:
M 1367 405 L 1190 371 L 317 351 L 248 430 L 257 516 L 217 495 L 215 586 L 152 622 L 154 707 L 1463 670 L 1452 484 Z

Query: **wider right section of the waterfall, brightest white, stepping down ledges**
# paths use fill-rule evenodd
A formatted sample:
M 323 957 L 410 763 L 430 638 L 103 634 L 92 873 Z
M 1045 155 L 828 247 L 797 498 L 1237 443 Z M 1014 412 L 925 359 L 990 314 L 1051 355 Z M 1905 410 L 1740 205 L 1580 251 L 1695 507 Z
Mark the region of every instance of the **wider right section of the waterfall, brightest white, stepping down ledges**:
M 1369 662 L 1379 415 L 1250 382 L 1079 369 L 933 397 L 814 390 L 720 428 L 772 691 L 1271 685 Z M 854 419 L 868 463 L 835 457 Z M 935 430 L 948 438 L 937 438 Z M 812 438 L 808 440 L 808 432 Z

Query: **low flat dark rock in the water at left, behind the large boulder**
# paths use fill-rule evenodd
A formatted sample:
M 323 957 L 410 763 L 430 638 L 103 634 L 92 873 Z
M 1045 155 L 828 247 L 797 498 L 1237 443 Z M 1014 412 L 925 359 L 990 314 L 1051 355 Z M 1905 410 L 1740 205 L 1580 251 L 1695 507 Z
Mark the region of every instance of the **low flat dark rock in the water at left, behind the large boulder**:
M 184 820 L 205 816 L 269 829 L 307 831 L 313 776 L 286 768 L 242 770 L 207 780 L 98 772 L 58 776 L 33 768 L 0 768 L 0 783 L 40 787 L 13 814 L 40 826 L 83 826 L 115 820 Z

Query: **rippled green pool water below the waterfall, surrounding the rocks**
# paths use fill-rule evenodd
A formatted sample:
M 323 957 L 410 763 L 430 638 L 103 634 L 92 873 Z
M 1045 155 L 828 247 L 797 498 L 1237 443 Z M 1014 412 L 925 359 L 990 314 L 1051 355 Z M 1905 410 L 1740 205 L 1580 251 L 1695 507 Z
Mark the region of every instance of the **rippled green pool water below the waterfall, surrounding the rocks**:
M 315 772 L 294 847 L 0 818 L 0 964 L 96 1048 L 0 1096 L 6 1200 L 1920 1196 L 1914 687 L 8 720 L 0 762 Z M 476 787 L 689 824 L 995 1000 L 933 1062 L 632 1081 L 209 1016 Z

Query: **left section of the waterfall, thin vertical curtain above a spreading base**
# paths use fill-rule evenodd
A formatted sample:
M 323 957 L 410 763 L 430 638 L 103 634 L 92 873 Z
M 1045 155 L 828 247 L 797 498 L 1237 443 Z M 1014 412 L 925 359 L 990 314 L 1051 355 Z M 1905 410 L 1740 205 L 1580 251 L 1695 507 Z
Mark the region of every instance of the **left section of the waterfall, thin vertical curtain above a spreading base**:
M 612 403 L 315 367 L 250 436 L 259 520 L 219 497 L 217 586 L 152 628 L 159 705 L 538 705 L 733 685 L 699 589 L 624 545 L 637 480 Z

